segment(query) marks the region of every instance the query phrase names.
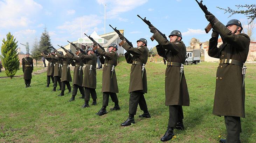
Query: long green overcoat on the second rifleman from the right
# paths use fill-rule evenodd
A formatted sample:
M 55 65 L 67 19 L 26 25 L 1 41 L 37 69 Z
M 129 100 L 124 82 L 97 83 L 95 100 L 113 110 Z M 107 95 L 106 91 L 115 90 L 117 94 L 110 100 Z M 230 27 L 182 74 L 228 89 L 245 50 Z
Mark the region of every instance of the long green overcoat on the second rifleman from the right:
M 153 35 L 159 43 L 157 52 L 167 62 L 184 64 L 186 60 L 186 46 L 182 41 L 169 42 L 158 32 Z M 167 66 L 165 70 L 165 105 L 189 106 L 188 87 L 183 71 L 180 81 L 180 67 Z

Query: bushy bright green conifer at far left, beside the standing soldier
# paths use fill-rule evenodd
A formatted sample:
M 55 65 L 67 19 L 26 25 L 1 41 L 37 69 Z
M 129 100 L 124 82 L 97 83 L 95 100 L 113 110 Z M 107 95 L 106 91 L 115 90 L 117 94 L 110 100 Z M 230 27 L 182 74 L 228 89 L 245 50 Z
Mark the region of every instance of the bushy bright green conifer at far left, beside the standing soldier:
M 1 53 L 0 55 L 3 66 L 5 67 L 5 74 L 7 77 L 13 78 L 19 69 L 19 57 L 17 53 L 17 42 L 16 38 L 9 32 L 5 38 L 2 40 Z

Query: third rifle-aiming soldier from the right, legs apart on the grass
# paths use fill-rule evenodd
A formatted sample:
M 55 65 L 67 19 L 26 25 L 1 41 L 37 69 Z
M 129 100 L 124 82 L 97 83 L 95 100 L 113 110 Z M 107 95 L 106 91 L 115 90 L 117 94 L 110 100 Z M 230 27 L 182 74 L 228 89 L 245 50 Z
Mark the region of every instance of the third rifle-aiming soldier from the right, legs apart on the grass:
M 125 40 L 124 36 L 119 37 Z M 126 62 L 131 63 L 132 66 L 128 91 L 130 93 L 129 117 L 125 122 L 121 123 L 121 126 L 130 126 L 131 123 L 135 123 L 134 115 L 136 115 L 138 104 L 140 109 L 144 112 L 142 115 L 139 115 L 139 117 L 151 118 L 144 98 L 144 93 L 147 93 L 147 74 L 145 69 L 148 58 L 147 40 L 144 38 L 137 40 L 137 48 L 131 47 L 124 41 L 122 47 L 127 51 L 124 54 Z

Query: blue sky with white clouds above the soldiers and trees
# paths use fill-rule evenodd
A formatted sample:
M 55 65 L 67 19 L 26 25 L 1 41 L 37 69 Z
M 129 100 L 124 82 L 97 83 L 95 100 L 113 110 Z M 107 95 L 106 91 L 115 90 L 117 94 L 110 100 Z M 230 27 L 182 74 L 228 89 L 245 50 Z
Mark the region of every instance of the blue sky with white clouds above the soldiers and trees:
M 157 42 L 151 42 L 152 33 L 137 14 L 147 17 L 167 36 L 172 30 L 180 30 L 186 46 L 193 37 L 201 42 L 210 38 L 210 33 L 204 31 L 208 22 L 194 0 L 0 0 L 0 39 L 11 32 L 19 43 L 29 42 L 31 50 L 35 37 L 40 40 L 44 27 L 47 27 L 55 47 L 57 44 L 67 45 L 67 40 L 75 41 L 81 37 L 81 16 L 83 33 L 90 35 L 96 31 L 100 35 L 104 33 L 105 4 L 106 33 L 113 31 L 109 27 L 111 24 L 124 29 L 125 37 L 132 43 L 146 38 L 149 48 L 157 45 Z M 235 5 L 255 4 L 255 0 L 204 0 L 203 4 L 223 24 L 235 18 L 247 23 L 244 15 L 228 18 L 228 13 L 224 14 L 216 7 L 236 9 Z M 26 52 L 25 46 L 19 44 L 18 47 Z

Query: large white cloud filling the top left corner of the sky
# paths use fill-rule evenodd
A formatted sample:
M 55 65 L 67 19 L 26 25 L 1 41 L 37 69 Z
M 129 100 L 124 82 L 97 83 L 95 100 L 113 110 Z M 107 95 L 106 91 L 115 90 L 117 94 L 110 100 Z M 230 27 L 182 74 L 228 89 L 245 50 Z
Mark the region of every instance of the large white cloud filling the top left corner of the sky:
M 0 28 L 26 27 L 42 8 L 33 0 L 0 1 Z

